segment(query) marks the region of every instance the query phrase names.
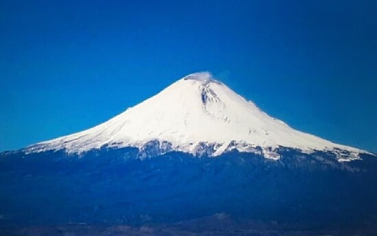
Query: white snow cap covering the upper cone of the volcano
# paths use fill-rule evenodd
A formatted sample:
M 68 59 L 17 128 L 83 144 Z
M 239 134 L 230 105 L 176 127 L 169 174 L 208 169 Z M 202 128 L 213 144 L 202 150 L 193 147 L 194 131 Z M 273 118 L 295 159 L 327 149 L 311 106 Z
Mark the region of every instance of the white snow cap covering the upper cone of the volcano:
M 217 144 L 214 156 L 236 148 L 278 159 L 278 146 L 313 150 L 347 150 L 352 159 L 363 150 L 332 143 L 292 129 L 246 101 L 210 73 L 194 73 L 171 84 L 155 96 L 91 129 L 40 142 L 29 151 L 65 148 L 80 153 L 101 146 L 141 147 L 150 140 L 166 140 L 173 149 L 195 154 L 199 142 Z M 229 146 L 234 141 L 236 145 Z M 346 157 L 341 157 L 345 161 Z

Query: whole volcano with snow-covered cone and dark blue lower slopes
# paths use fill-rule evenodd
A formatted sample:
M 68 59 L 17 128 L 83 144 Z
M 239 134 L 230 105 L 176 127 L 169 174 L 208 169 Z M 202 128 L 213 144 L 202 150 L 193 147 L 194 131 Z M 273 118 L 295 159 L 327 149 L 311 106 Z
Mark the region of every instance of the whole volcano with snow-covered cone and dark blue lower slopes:
M 375 235 L 376 178 L 374 153 L 297 131 L 193 73 L 96 127 L 0 153 L 0 232 L 106 224 L 235 235 L 267 224 L 278 235 Z

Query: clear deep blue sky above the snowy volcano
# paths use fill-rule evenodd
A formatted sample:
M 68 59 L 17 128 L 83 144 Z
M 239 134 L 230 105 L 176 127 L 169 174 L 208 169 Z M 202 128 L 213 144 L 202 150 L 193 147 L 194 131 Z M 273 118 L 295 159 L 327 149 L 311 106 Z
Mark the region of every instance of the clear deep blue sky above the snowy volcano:
M 0 0 L 0 151 L 209 70 L 296 129 L 377 153 L 376 29 L 377 1 Z

